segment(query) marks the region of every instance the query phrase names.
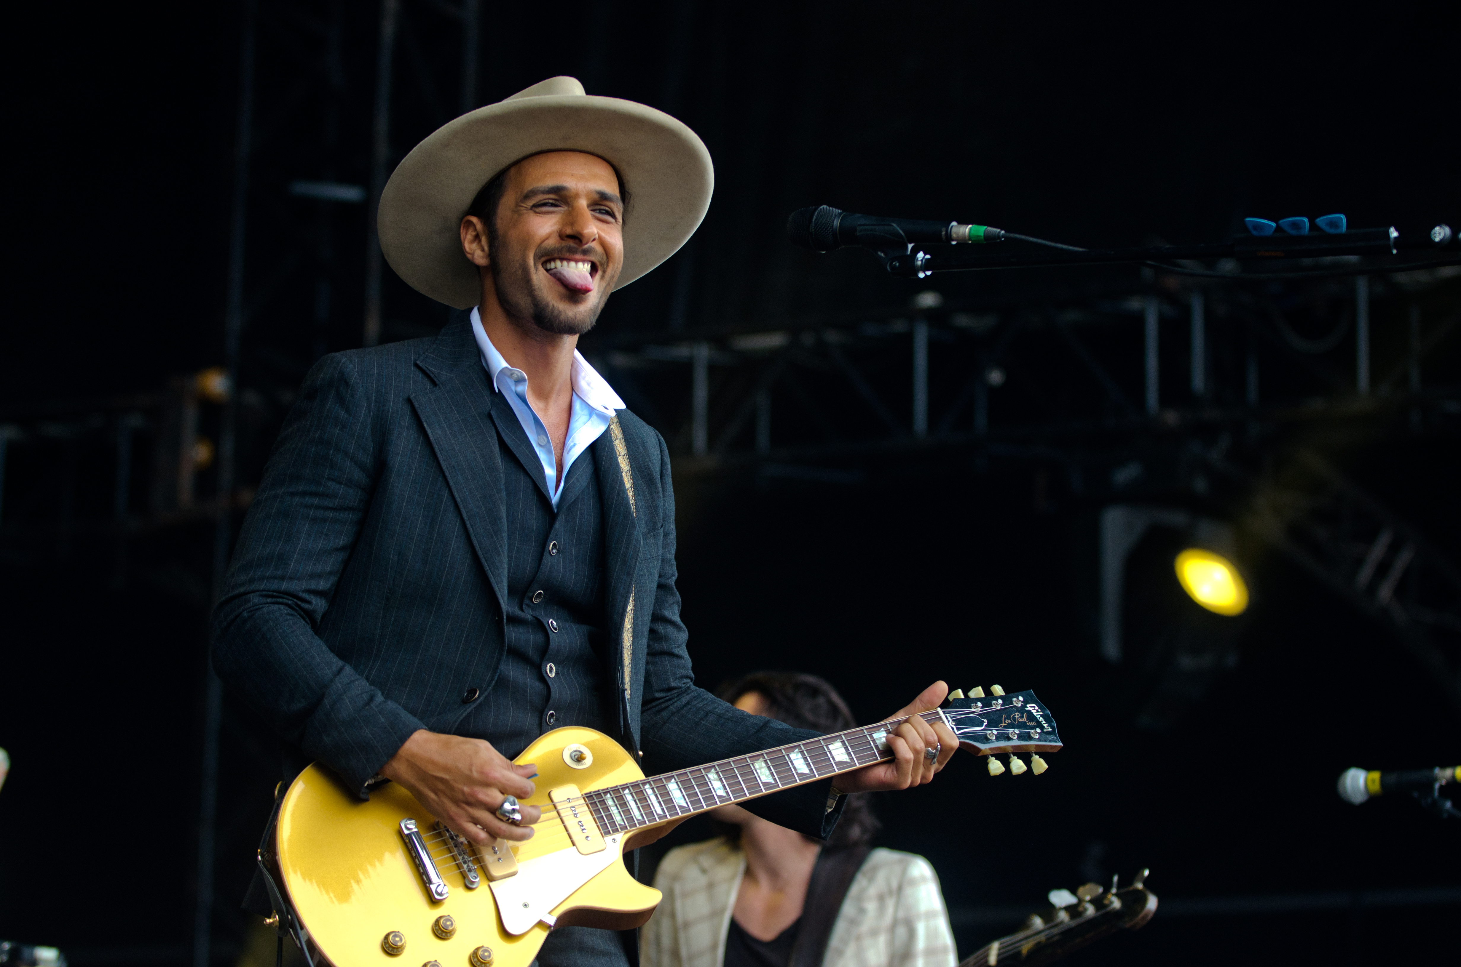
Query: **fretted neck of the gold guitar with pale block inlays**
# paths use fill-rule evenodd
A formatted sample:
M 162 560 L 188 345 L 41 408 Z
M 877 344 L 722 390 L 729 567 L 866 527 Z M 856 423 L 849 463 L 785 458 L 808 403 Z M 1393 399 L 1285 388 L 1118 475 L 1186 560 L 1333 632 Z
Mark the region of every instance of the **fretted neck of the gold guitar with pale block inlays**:
M 945 722 L 938 708 L 919 713 L 928 723 Z M 586 792 L 605 836 L 630 833 L 716 806 L 804 786 L 893 758 L 887 736 L 906 719 L 890 719 L 763 752 L 736 755 L 678 773 Z

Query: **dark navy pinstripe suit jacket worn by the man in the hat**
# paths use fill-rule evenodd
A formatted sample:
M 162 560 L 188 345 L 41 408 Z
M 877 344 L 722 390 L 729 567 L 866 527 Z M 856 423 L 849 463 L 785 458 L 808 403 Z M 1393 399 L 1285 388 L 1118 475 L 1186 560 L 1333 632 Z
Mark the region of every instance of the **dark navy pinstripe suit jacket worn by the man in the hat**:
M 362 790 L 416 729 L 453 732 L 503 656 L 503 463 L 465 321 L 321 359 L 275 446 L 213 612 L 213 668 L 305 757 Z M 647 773 L 811 733 L 694 685 L 675 590 L 669 451 L 628 410 L 593 446 L 621 741 Z M 633 502 L 631 502 L 633 501 Z M 631 603 L 633 602 L 633 603 Z M 827 781 L 751 803 L 825 836 Z

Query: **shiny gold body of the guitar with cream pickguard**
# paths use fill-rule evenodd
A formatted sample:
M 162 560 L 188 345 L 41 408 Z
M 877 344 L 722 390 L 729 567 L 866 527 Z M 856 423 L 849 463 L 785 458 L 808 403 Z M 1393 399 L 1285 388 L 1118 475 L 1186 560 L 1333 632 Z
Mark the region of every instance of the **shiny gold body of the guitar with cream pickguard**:
M 573 745 L 587 748 L 592 760 L 571 765 L 565 751 Z M 440 901 L 428 893 L 400 833 L 402 819 L 412 818 L 424 837 L 432 836 L 435 817 L 415 796 L 387 783 L 361 802 L 318 765 L 294 780 L 276 825 L 282 888 L 335 967 L 432 960 L 460 967 L 479 947 L 492 949 L 492 967 L 527 967 L 549 923 L 630 929 L 650 917 L 660 893 L 624 868 L 624 837 L 605 836 L 603 850 L 583 855 L 549 800 L 549 792 L 562 786 L 589 792 L 643 779 L 630 754 L 593 729 L 565 727 L 539 736 L 516 761 L 538 765 L 536 792 L 523 805 L 542 808 L 533 838 L 513 844 L 517 872 L 497 881 L 484 874 L 481 885 L 468 890 L 463 875 L 438 859 L 447 885 Z M 444 844 L 431 852 L 441 855 Z M 511 906 L 507 919 L 498 903 Z M 432 932 L 443 914 L 456 922 L 449 939 Z M 405 938 L 399 955 L 381 945 L 392 930 Z

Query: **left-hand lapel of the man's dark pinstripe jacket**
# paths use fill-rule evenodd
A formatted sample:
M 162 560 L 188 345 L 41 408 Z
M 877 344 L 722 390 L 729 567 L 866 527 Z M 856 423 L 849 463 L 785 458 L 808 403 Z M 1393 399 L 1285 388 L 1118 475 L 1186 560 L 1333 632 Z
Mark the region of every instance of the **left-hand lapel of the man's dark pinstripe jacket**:
M 507 606 L 507 517 L 492 387 L 466 323 L 451 323 L 416 361 L 435 386 L 411 394 L 472 546 L 498 603 Z

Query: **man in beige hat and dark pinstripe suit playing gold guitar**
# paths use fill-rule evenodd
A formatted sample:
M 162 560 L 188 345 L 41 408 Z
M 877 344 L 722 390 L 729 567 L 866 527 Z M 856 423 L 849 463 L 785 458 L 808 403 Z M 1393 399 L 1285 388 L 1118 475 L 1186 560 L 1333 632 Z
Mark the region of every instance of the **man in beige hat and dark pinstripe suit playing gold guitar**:
M 695 688 L 669 451 L 576 349 L 609 292 L 690 238 L 712 186 L 694 131 L 571 77 L 459 117 L 396 168 L 381 250 L 470 318 L 314 367 L 213 615 L 213 665 L 278 730 L 286 779 L 321 761 L 362 798 L 400 783 L 472 841 L 524 840 L 536 770 L 511 760 L 549 729 L 612 735 L 650 774 L 814 735 Z M 890 745 L 840 792 L 926 783 L 957 742 L 915 717 Z M 748 808 L 825 837 L 834 802 L 823 781 Z M 625 957 L 612 932 L 562 928 L 539 960 Z

